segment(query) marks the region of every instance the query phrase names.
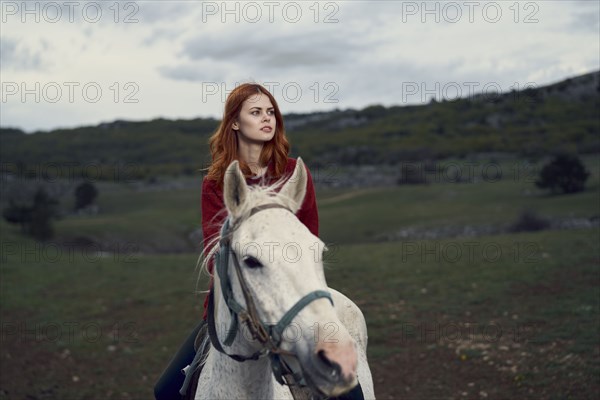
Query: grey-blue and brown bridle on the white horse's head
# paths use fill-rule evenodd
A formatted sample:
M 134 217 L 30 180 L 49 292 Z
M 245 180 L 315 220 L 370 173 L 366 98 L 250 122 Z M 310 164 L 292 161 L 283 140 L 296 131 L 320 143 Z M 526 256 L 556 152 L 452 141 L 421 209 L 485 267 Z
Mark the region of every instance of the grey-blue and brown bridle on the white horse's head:
M 289 208 L 283 205 L 277 203 L 270 203 L 254 207 L 250 210 L 250 214 L 246 219 L 250 218 L 252 215 L 260 211 L 273 208 L 281 208 L 292 212 Z M 273 370 L 275 379 L 282 385 L 290 386 L 292 395 L 296 398 L 296 394 L 294 393 L 293 387 L 297 388 L 298 386 L 306 386 L 306 381 L 304 380 L 301 372 L 298 371 L 294 373 L 289 367 L 289 365 L 287 365 L 287 363 L 281 357 L 285 355 L 297 358 L 297 355 L 295 353 L 289 352 L 281 348 L 283 331 L 292 322 L 296 315 L 298 315 L 298 313 L 304 307 L 306 307 L 314 300 L 320 298 L 327 298 L 333 305 L 333 299 L 331 298 L 331 294 L 329 294 L 329 292 L 325 290 L 315 290 L 298 300 L 296 304 L 294 304 L 283 315 L 283 317 L 281 317 L 277 324 L 269 325 L 261 321 L 260 317 L 258 316 L 258 310 L 256 309 L 254 299 L 248 288 L 248 284 L 244 279 L 244 275 L 242 274 L 242 268 L 238 261 L 237 255 L 234 251 L 231 250 L 231 238 L 233 236 L 233 232 L 237 228 L 239 228 L 239 226 L 244 221 L 245 220 L 236 221 L 236 223 L 233 226 L 230 226 L 230 219 L 227 218 L 225 220 L 225 223 L 223 224 L 223 227 L 221 228 L 221 239 L 219 241 L 220 248 L 219 251 L 215 254 L 215 267 L 216 273 L 221 282 L 221 293 L 223 294 L 225 304 L 227 304 L 227 307 L 229 308 L 229 312 L 231 314 L 231 323 L 227 332 L 227 336 L 221 344 L 217 336 L 215 326 L 213 294 L 214 290 L 211 290 L 208 297 L 208 332 L 210 341 L 215 349 L 231 357 L 235 361 L 243 362 L 246 360 L 258 360 L 261 357 L 268 356 L 271 361 L 271 369 Z M 233 259 L 234 269 L 237 278 L 240 282 L 240 287 L 242 290 L 242 294 L 244 295 L 244 300 L 246 302 L 247 308 L 244 308 L 240 303 L 238 303 L 233 296 L 231 281 L 229 279 L 228 274 L 230 254 Z M 223 346 L 231 346 L 231 344 L 233 343 L 238 331 L 238 319 L 242 323 L 246 324 L 253 338 L 258 340 L 262 345 L 261 349 L 257 350 L 251 355 L 230 354 L 227 353 L 223 348 Z

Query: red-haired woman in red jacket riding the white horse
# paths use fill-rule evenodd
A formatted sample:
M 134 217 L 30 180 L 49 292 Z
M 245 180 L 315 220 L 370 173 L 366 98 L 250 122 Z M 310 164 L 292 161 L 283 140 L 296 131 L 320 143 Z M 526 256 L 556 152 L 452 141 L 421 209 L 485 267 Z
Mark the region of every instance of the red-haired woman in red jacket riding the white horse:
M 289 142 L 285 136 L 283 117 L 275 98 L 264 87 L 255 83 L 245 83 L 233 90 L 227 97 L 223 120 L 209 140 L 212 164 L 202 182 L 202 233 L 204 254 L 225 219 L 223 203 L 223 178 L 229 164 L 238 160 L 249 185 L 271 184 L 282 176 L 291 176 L 296 160 L 288 157 Z M 319 235 L 319 217 L 315 190 L 307 168 L 306 195 L 302 207 L 297 212 L 298 219 L 315 235 Z M 281 187 L 281 186 L 280 186 Z M 208 265 L 212 274 L 213 264 Z M 212 290 L 212 277 L 210 288 Z M 180 399 L 180 388 L 184 383 L 181 370 L 189 365 L 194 356 L 194 341 L 205 334 L 208 296 L 204 301 L 203 321 L 196 327 L 163 376 L 154 388 L 158 400 Z M 198 335 L 198 332 L 202 333 Z M 197 376 L 189 387 L 182 388 L 193 398 Z M 348 397 L 350 395 L 350 397 Z M 345 399 L 361 399 L 360 385 Z

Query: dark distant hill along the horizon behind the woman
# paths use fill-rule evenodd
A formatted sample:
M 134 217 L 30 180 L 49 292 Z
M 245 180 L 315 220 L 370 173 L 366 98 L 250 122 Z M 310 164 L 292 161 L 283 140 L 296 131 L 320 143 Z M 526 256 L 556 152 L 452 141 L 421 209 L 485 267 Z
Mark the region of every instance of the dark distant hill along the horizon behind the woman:
M 509 152 L 536 157 L 557 149 L 600 152 L 600 71 L 549 86 L 427 105 L 333 110 L 284 116 L 292 155 L 310 165 L 395 164 Z M 0 128 L 5 170 L 70 165 L 130 174 L 194 174 L 210 161 L 215 119 L 145 122 L 25 134 Z M 33 173 L 33 172 L 32 172 Z

